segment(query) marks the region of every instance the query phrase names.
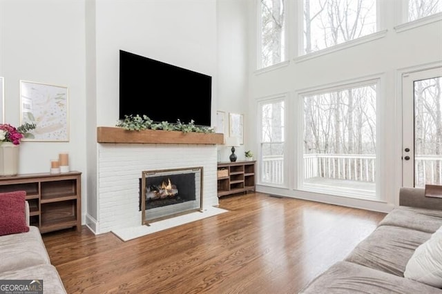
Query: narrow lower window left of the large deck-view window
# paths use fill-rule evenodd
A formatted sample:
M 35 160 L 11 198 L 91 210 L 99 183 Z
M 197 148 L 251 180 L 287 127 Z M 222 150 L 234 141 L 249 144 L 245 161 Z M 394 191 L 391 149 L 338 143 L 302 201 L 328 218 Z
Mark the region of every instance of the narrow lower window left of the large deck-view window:
M 284 183 L 284 101 L 261 104 L 261 182 Z

